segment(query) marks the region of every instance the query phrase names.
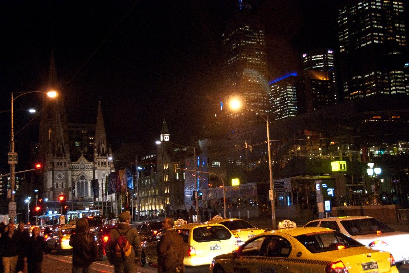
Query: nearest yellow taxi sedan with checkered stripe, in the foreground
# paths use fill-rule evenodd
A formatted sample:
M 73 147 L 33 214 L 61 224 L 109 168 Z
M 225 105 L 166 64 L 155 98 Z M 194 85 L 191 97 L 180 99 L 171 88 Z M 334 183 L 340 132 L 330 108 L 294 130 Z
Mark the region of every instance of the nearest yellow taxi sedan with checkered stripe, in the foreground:
M 237 251 L 215 257 L 211 273 L 393 272 L 389 252 L 377 251 L 331 229 L 296 227 L 261 233 Z

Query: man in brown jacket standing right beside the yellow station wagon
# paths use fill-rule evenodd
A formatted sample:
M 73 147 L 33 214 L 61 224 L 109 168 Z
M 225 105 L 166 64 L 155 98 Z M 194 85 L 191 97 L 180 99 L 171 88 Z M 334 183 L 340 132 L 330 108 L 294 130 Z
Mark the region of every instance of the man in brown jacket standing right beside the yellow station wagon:
M 157 243 L 157 271 L 158 273 L 184 273 L 183 239 L 174 229 L 174 220 L 165 218 L 162 222 L 162 233 Z

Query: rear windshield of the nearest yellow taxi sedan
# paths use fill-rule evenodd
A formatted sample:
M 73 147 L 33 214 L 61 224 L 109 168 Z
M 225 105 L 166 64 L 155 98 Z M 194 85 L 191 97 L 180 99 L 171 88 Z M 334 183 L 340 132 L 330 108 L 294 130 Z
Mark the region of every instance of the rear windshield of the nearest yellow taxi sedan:
M 337 231 L 313 232 L 295 237 L 312 253 L 363 246 L 351 237 Z

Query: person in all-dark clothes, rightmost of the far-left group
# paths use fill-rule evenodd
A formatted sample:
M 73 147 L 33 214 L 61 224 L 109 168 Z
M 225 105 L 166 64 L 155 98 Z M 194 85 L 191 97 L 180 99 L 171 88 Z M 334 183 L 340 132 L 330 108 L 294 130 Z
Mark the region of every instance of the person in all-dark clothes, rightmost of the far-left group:
M 44 253 L 47 257 L 48 247 L 43 236 L 40 236 L 40 228 L 34 227 L 32 236 L 28 240 L 27 248 L 27 267 L 28 273 L 41 273 Z

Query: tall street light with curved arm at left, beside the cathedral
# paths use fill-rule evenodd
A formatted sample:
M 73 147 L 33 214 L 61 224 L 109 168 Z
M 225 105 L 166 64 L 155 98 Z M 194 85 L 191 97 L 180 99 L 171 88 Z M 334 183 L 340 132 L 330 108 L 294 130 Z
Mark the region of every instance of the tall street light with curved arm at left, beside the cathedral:
M 11 132 L 10 132 L 10 153 L 9 153 L 9 164 L 10 164 L 10 187 L 11 187 L 11 202 L 14 203 L 14 189 L 16 186 L 15 180 L 15 165 L 17 164 L 17 153 L 14 152 L 14 100 L 17 100 L 20 96 L 31 94 L 31 93 L 46 93 L 48 97 L 55 98 L 57 96 L 57 92 L 54 90 L 50 90 L 48 92 L 43 91 L 30 91 L 30 92 L 19 92 L 16 93 L 17 96 L 14 97 L 14 93 L 11 92 Z M 9 208 L 10 210 L 10 208 Z M 15 218 L 15 211 L 10 213 L 9 217 L 14 222 Z

